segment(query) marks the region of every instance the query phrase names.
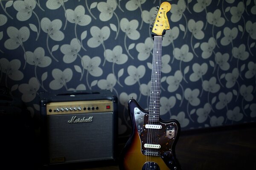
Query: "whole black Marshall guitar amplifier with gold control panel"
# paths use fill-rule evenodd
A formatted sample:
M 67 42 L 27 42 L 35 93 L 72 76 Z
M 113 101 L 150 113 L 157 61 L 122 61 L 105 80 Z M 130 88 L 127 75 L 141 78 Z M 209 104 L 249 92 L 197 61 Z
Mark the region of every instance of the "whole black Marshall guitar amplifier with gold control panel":
M 117 99 L 110 91 L 40 95 L 43 164 L 116 159 Z

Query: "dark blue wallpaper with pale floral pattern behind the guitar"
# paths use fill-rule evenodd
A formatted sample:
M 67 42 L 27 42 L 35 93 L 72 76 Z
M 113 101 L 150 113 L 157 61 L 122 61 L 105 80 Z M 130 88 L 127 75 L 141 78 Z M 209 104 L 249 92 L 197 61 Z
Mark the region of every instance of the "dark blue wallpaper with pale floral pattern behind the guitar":
M 182 130 L 256 120 L 256 0 L 167 0 L 160 116 Z M 109 89 L 119 135 L 131 96 L 149 107 L 161 0 L 0 0 L 0 85 L 32 117 L 39 93 Z

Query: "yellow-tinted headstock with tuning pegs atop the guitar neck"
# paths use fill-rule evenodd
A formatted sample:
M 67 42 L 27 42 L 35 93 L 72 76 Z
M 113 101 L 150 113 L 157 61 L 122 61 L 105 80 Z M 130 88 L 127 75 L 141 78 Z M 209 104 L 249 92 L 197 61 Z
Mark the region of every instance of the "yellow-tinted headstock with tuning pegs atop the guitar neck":
M 161 36 L 165 34 L 165 31 L 170 29 L 168 17 L 166 15 L 167 12 L 171 10 L 171 4 L 168 2 L 161 3 L 159 10 L 157 12 L 157 16 L 154 22 L 154 26 L 152 28 L 152 35 Z

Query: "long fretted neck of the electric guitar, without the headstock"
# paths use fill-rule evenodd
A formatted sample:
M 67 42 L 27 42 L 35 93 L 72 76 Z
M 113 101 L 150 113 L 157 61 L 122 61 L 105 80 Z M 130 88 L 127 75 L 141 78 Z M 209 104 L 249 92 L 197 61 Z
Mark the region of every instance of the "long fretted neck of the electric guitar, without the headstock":
M 154 50 L 151 74 L 151 94 L 149 103 L 149 122 L 157 123 L 160 117 L 160 90 L 162 68 L 162 36 L 154 36 Z

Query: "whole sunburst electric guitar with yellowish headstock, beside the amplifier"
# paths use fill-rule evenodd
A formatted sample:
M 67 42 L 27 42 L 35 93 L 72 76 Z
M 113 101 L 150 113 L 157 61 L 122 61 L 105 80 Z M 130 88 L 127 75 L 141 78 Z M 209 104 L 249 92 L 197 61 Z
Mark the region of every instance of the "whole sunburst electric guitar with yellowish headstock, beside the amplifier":
M 120 155 L 120 170 L 181 170 L 175 156 L 175 144 L 180 133 L 177 120 L 160 118 L 160 82 L 162 35 L 169 28 L 166 13 L 171 4 L 161 4 L 155 19 L 151 94 L 148 111 L 134 99 L 128 102 L 132 134 Z

